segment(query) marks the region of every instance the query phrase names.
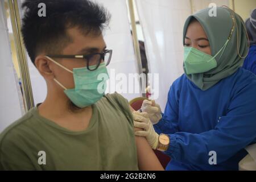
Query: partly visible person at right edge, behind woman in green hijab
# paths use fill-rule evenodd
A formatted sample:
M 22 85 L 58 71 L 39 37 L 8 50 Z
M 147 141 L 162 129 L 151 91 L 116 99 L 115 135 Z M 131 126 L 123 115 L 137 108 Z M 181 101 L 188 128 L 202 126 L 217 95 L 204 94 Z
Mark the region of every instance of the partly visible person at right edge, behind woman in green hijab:
M 243 68 L 256 75 L 256 9 L 253 10 L 250 18 L 246 20 L 245 24 L 250 40 L 250 51 L 243 63 Z

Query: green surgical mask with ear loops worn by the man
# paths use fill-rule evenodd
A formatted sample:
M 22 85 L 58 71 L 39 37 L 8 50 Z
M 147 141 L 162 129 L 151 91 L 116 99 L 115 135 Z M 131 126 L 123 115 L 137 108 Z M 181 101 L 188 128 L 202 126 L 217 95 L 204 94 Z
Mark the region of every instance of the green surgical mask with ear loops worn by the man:
M 104 96 L 106 90 L 106 80 L 109 79 L 105 63 L 101 63 L 100 66 L 94 71 L 89 71 L 87 67 L 73 68 L 73 71 L 70 71 L 50 57 L 46 57 L 66 71 L 73 73 L 73 78 L 75 81 L 74 89 L 67 89 L 55 78 L 54 80 L 64 89 L 64 93 L 77 107 L 83 108 L 92 105 Z M 90 69 L 93 69 L 93 67 L 96 67 L 96 65 L 90 66 Z

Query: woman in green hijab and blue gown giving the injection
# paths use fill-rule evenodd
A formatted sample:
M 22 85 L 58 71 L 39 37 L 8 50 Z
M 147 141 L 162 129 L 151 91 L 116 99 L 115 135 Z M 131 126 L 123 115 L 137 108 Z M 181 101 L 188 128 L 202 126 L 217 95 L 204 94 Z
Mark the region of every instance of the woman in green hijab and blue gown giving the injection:
M 237 170 L 243 148 L 256 142 L 256 76 L 241 68 L 245 27 L 227 7 L 217 7 L 217 16 L 209 10 L 185 22 L 184 74 L 172 84 L 164 113 L 151 101 L 133 113 L 144 129 L 135 135 L 171 157 L 167 170 Z

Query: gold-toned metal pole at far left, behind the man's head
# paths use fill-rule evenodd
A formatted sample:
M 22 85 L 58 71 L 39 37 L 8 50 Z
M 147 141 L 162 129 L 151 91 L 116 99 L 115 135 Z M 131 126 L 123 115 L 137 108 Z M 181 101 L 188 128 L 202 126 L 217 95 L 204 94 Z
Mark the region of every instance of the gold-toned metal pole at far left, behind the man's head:
M 20 16 L 18 3 L 15 0 L 8 0 L 10 9 L 11 25 L 13 27 L 14 43 L 17 51 L 20 77 L 22 79 L 22 91 L 24 98 L 25 110 L 28 111 L 34 107 L 34 99 L 30 82 L 30 74 L 28 71 L 26 51 L 23 46 L 22 35 L 20 31 Z

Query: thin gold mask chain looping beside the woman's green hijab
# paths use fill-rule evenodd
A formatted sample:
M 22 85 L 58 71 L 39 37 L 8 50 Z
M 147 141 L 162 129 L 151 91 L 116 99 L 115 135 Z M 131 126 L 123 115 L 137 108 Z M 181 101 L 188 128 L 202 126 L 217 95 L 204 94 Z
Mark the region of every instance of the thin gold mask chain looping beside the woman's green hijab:
M 231 32 L 230 32 L 230 35 L 229 35 L 229 38 L 228 38 L 228 39 L 229 39 L 229 40 L 231 39 L 231 36 L 232 36 L 232 34 L 233 34 L 233 31 L 234 31 L 234 26 L 236 26 L 236 30 L 237 30 L 237 53 L 238 53 L 238 56 L 243 59 L 243 58 L 245 58 L 245 57 L 248 55 L 248 53 L 249 53 L 249 48 L 250 48 L 249 36 L 248 36 L 248 34 L 247 34 L 245 24 L 243 23 L 243 20 L 242 20 L 241 16 L 238 15 L 239 18 L 240 18 L 241 21 L 242 21 L 243 28 L 245 29 L 245 33 L 246 33 L 246 37 L 247 37 L 247 43 L 248 43 L 246 55 L 245 55 L 245 56 L 241 56 L 241 55 L 240 55 L 240 49 L 238 48 L 238 44 L 239 44 L 239 42 L 238 42 L 238 27 L 237 27 L 237 19 L 235 18 L 235 15 L 234 15 L 235 12 L 234 12 L 232 9 L 230 9 L 228 6 L 223 5 L 222 7 L 225 7 L 225 8 L 227 8 L 227 9 L 229 9 L 230 11 L 232 11 L 231 15 L 232 15 L 232 20 L 233 20 L 233 28 L 232 28 L 232 30 L 231 30 Z

